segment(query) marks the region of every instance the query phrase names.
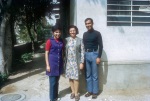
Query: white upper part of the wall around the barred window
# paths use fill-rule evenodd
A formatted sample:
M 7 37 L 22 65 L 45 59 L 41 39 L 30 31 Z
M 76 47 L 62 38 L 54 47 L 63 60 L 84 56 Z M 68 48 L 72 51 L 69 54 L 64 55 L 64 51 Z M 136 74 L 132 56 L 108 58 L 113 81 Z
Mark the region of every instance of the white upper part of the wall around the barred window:
M 84 20 L 91 17 L 102 34 L 103 61 L 150 63 L 150 27 L 107 26 L 107 0 L 76 0 L 79 37 L 86 31 Z M 75 21 L 75 20 L 74 20 Z

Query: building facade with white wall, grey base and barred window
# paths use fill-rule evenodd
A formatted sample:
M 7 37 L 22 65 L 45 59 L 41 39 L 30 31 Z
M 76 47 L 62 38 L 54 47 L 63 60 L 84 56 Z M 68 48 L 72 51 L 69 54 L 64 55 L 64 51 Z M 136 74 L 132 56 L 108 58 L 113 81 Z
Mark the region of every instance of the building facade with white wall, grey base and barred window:
M 150 88 L 150 1 L 70 1 L 70 24 L 77 25 L 78 36 L 82 38 L 86 31 L 84 20 L 88 17 L 101 32 L 101 88 Z

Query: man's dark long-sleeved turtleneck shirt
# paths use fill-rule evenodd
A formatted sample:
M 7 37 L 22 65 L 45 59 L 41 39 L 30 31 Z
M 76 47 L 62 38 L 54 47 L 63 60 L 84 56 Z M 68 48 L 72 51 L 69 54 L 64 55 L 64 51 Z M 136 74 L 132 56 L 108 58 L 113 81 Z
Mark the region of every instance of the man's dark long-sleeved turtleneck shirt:
M 99 46 L 99 54 L 98 57 L 101 58 L 102 50 L 103 50 L 103 42 L 101 33 L 92 29 L 90 31 L 84 32 L 83 34 L 83 43 L 85 50 L 97 50 Z

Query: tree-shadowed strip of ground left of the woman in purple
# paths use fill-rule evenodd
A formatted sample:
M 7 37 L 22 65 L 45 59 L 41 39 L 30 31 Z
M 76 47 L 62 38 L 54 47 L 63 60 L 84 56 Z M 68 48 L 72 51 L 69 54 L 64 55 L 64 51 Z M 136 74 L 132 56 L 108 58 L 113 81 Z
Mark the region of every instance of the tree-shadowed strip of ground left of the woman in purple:
M 44 53 L 35 53 L 34 58 L 31 62 L 19 64 L 15 67 L 15 70 L 13 70 L 12 74 L 10 75 L 10 77 L 15 75 L 15 78 L 9 77 L 2 87 L 23 80 L 27 77 L 39 74 L 44 71 L 45 71 Z

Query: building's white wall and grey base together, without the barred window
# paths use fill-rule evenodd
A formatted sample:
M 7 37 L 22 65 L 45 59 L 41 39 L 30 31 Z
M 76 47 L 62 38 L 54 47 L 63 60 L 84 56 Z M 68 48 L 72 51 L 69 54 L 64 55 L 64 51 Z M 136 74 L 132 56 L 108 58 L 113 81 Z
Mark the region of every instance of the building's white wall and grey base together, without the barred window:
M 102 34 L 102 78 L 108 89 L 149 88 L 150 27 L 107 26 L 107 0 L 76 0 L 74 24 L 79 37 L 86 31 L 84 20 L 91 17 Z M 100 74 L 101 75 L 101 74 Z M 107 81 L 107 82 L 105 82 Z

